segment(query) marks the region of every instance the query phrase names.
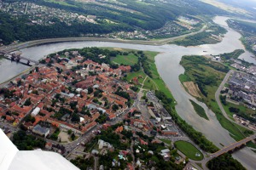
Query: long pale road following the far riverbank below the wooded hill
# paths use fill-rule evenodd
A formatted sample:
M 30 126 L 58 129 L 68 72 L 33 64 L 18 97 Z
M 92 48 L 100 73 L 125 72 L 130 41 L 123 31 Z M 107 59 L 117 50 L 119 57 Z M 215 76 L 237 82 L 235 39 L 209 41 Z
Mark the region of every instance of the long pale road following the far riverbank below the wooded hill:
M 122 42 L 122 43 L 134 43 L 134 44 L 143 44 L 143 45 L 164 45 L 168 42 L 173 42 L 177 39 L 193 36 L 197 33 L 207 30 L 207 25 L 203 26 L 200 31 L 191 32 L 189 34 L 184 34 L 182 36 L 164 38 L 160 40 L 152 41 L 143 41 L 143 40 L 123 40 L 123 39 L 113 39 L 113 38 L 103 38 L 103 37 L 61 37 L 61 38 L 48 38 L 41 40 L 34 40 L 30 42 L 20 42 L 11 44 L 9 46 L 3 46 L 0 48 L 0 51 L 4 53 L 9 53 L 13 51 L 20 50 L 22 48 L 29 48 L 32 46 L 37 46 L 45 43 L 55 43 L 55 42 L 84 42 L 84 41 L 96 41 L 96 42 Z

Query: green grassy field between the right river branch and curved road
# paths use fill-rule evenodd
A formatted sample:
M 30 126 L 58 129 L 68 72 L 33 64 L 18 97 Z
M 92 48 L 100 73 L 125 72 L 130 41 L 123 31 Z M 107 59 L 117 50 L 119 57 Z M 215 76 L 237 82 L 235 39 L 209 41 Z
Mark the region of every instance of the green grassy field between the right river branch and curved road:
M 185 69 L 185 77 L 197 84 L 201 83 L 202 102 L 216 114 L 218 122 L 230 132 L 230 136 L 236 141 L 249 136 L 251 132 L 245 127 L 241 127 L 225 118 L 215 100 L 215 92 L 226 74 L 224 65 L 213 63 L 200 56 L 183 56 L 181 65 Z

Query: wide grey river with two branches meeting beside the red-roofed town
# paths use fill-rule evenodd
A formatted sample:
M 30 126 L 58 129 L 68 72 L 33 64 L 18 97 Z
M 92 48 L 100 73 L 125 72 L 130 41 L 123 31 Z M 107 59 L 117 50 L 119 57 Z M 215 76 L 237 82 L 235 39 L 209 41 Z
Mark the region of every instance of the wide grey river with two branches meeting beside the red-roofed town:
M 227 19 L 228 18 L 226 17 L 218 16 L 213 21 L 219 25 L 228 26 L 225 22 Z M 160 54 L 155 58 L 155 63 L 160 73 L 160 77 L 166 82 L 166 86 L 170 88 L 177 101 L 177 113 L 183 118 L 183 120 L 195 127 L 196 130 L 203 133 L 207 139 L 210 139 L 214 144 L 222 148 L 223 146 L 221 144 L 228 145 L 236 141 L 230 137 L 230 133 L 227 130 L 221 127 L 215 114 L 209 110 L 206 105 L 198 102 L 183 89 L 178 80 L 178 76 L 184 72 L 184 69 L 183 66 L 179 65 L 179 62 L 183 55 L 223 54 L 230 53 L 235 49 L 245 49 L 239 41 L 240 37 L 241 35 L 238 32 L 228 29 L 228 32 L 224 35 L 222 42 L 188 48 L 169 44 L 163 46 L 151 46 L 119 42 L 59 42 L 32 48 L 24 48 L 21 49 L 21 51 L 23 56 L 31 59 L 41 59 L 44 55 L 55 53 L 66 48 L 84 47 L 131 48 L 160 52 Z M 253 54 L 246 51 L 246 53 L 242 54 L 240 58 L 256 64 L 256 60 L 251 58 L 252 55 Z M 15 77 L 15 75 L 28 68 L 26 65 L 16 64 L 15 62 L 11 63 L 9 60 L 5 59 L 0 60 L 0 65 L 0 82 L 4 82 L 11 77 Z M 189 99 L 193 99 L 207 111 L 207 116 L 210 119 L 209 121 L 201 118 L 195 113 Z M 256 154 L 254 154 L 252 150 L 244 148 L 237 151 L 233 156 L 240 161 L 244 167 L 247 167 L 247 169 L 256 168 Z

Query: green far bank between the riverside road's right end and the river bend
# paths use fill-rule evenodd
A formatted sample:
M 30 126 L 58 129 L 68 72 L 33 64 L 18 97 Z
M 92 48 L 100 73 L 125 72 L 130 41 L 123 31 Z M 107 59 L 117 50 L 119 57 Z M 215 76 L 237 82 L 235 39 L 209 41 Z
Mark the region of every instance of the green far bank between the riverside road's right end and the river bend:
M 193 36 L 184 37 L 183 39 L 177 40 L 173 43 L 185 47 L 217 43 L 221 41 L 222 35 L 226 32 L 227 31 L 221 26 L 209 26 L 207 31 L 197 33 Z

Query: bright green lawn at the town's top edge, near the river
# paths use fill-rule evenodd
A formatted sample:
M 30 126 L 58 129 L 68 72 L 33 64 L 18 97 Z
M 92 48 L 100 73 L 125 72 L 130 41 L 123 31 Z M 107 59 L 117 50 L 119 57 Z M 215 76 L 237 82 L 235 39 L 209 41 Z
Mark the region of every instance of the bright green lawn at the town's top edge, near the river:
M 137 56 L 135 54 L 117 55 L 112 59 L 112 61 L 119 65 L 135 65 L 137 64 Z

